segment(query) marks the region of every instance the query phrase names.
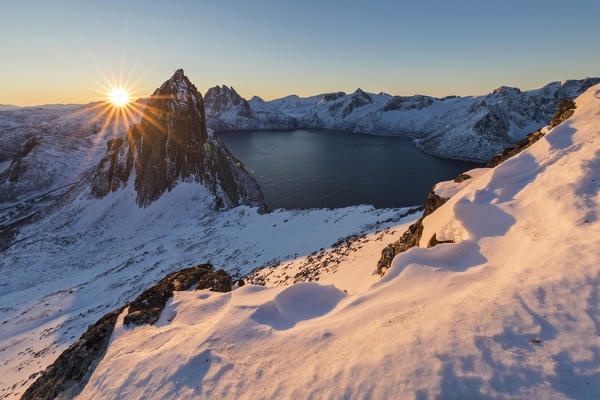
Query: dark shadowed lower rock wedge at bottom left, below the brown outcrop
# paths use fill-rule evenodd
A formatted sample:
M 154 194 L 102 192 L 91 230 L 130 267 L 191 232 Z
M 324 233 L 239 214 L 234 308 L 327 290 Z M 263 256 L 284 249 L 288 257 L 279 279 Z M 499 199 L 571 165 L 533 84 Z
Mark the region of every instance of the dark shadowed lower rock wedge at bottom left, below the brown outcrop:
M 121 307 L 106 314 L 81 335 L 23 393 L 23 400 L 52 400 L 63 394 L 73 398 L 83 389 L 94 367 L 106 353 Z M 68 393 L 68 395 L 64 395 Z

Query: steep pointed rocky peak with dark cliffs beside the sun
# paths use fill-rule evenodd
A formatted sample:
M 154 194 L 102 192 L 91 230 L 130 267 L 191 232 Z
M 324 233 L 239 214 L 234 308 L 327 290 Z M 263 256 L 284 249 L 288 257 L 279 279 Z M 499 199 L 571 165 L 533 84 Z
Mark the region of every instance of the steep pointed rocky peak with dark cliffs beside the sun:
M 108 143 L 92 178 L 91 194 L 101 198 L 127 184 L 135 171 L 137 203 L 147 207 L 179 182 L 205 185 L 216 206 L 264 208 L 258 184 L 223 146 L 208 134 L 202 95 L 183 70 L 161 85 L 145 106 L 141 122 L 127 140 Z

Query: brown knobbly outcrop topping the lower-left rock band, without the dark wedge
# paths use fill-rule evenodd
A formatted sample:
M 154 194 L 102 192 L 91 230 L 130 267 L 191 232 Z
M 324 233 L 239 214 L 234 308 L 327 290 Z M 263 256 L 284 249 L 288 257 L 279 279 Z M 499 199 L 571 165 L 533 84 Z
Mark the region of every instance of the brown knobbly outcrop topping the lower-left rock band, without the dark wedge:
M 187 290 L 212 272 L 212 265 L 201 264 L 165 276 L 129 304 L 124 323 L 126 325 L 155 323 L 174 291 Z

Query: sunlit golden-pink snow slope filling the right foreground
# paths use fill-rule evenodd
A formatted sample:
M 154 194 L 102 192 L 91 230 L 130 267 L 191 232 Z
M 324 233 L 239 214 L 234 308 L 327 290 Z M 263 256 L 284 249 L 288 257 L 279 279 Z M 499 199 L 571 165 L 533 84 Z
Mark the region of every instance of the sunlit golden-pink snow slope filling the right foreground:
M 600 397 L 600 85 L 576 104 L 425 218 L 421 246 L 454 243 L 348 293 L 176 292 L 155 325 L 119 317 L 79 398 Z

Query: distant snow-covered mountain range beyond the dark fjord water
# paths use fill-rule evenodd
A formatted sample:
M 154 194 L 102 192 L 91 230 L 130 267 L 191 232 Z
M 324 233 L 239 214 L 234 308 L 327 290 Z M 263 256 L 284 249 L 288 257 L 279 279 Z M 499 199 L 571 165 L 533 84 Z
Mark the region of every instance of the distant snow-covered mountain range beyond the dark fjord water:
M 235 91 L 217 86 L 209 90 L 207 100 L 207 110 L 215 111 L 207 115 L 208 124 L 217 130 L 326 128 L 405 135 L 415 137 L 421 150 L 440 157 L 487 161 L 547 124 L 562 99 L 572 100 L 597 83 L 600 78 L 567 80 L 529 91 L 502 86 L 485 96 L 444 98 L 357 89 L 269 102 L 256 97 L 246 102 Z

